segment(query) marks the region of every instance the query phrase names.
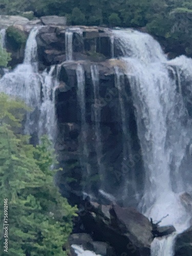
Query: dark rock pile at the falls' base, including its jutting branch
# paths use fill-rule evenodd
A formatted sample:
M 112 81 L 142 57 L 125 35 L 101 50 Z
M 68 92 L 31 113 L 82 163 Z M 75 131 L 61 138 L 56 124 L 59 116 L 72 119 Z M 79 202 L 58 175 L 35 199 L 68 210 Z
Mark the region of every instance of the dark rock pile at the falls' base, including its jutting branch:
M 102 256 L 150 256 L 154 237 L 175 232 L 173 226 L 157 225 L 154 230 L 154 225 L 132 207 L 121 207 L 113 202 L 98 204 L 87 198 L 79 204 L 74 233 L 64 248 L 70 249 L 72 256 L 76 256 L 72 245 Z

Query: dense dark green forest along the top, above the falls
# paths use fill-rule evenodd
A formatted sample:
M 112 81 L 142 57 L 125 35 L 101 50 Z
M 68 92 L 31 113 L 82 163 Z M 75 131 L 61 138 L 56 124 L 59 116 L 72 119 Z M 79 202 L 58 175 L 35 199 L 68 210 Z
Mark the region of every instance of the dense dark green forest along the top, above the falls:
M 192 55 L 191 0 L 1 0 L 0 14 L 65 15 L 69 25 L 145 27 L 159 41 L 174 44 L 177 54 Z

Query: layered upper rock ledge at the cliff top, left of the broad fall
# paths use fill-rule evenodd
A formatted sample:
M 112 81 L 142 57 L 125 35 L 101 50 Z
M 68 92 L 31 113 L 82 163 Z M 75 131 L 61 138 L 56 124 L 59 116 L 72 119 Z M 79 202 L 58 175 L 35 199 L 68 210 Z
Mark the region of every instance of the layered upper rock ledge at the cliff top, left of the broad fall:
M 11 67 L 23 62 L 25 42 L 30 30 L 35 26 L 39 26 L 36 40 L 40 70 L 66 61 L 67 52 L 70 51 L 69 44 L 72 47 L 73 60 L 99 62 L 113 55 L 109 29 L 66 26 L 65 17 L 45 16 L 29 20 L 20 16 L 2 15 L 0 29 L 8 31 L 6 47 L 12 53 L 12 60 L 9 63 Z M 69 31 L 73 32 L 72 37 L 69 38 L 70 42 L 67 38 Z

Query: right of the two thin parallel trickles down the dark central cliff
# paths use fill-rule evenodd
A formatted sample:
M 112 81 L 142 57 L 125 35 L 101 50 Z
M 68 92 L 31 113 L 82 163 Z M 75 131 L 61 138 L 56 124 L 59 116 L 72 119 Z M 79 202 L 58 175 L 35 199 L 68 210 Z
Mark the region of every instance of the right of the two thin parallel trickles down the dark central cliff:
M 102 176 L 104 175 L 104 167 L 101 163 L 102 158 L 102 142 L 101 142 L 101 130 L 100 130 L 100 121 L 101 121 L 101 107 L 98 104 L 99 100 L 99 70 L 97 65 L 91 66 L 91 78 L 93 82 L 93 89 L 94 89 L 94 120 L 95 120 L 95 135 L 96 135 L 96 142 L 95 142 L 95 149 L 97 154 L 97 165 L 99 169 L 99 177 L 102 180 Z M 102 183 L 101 183 L 102 184 Z

